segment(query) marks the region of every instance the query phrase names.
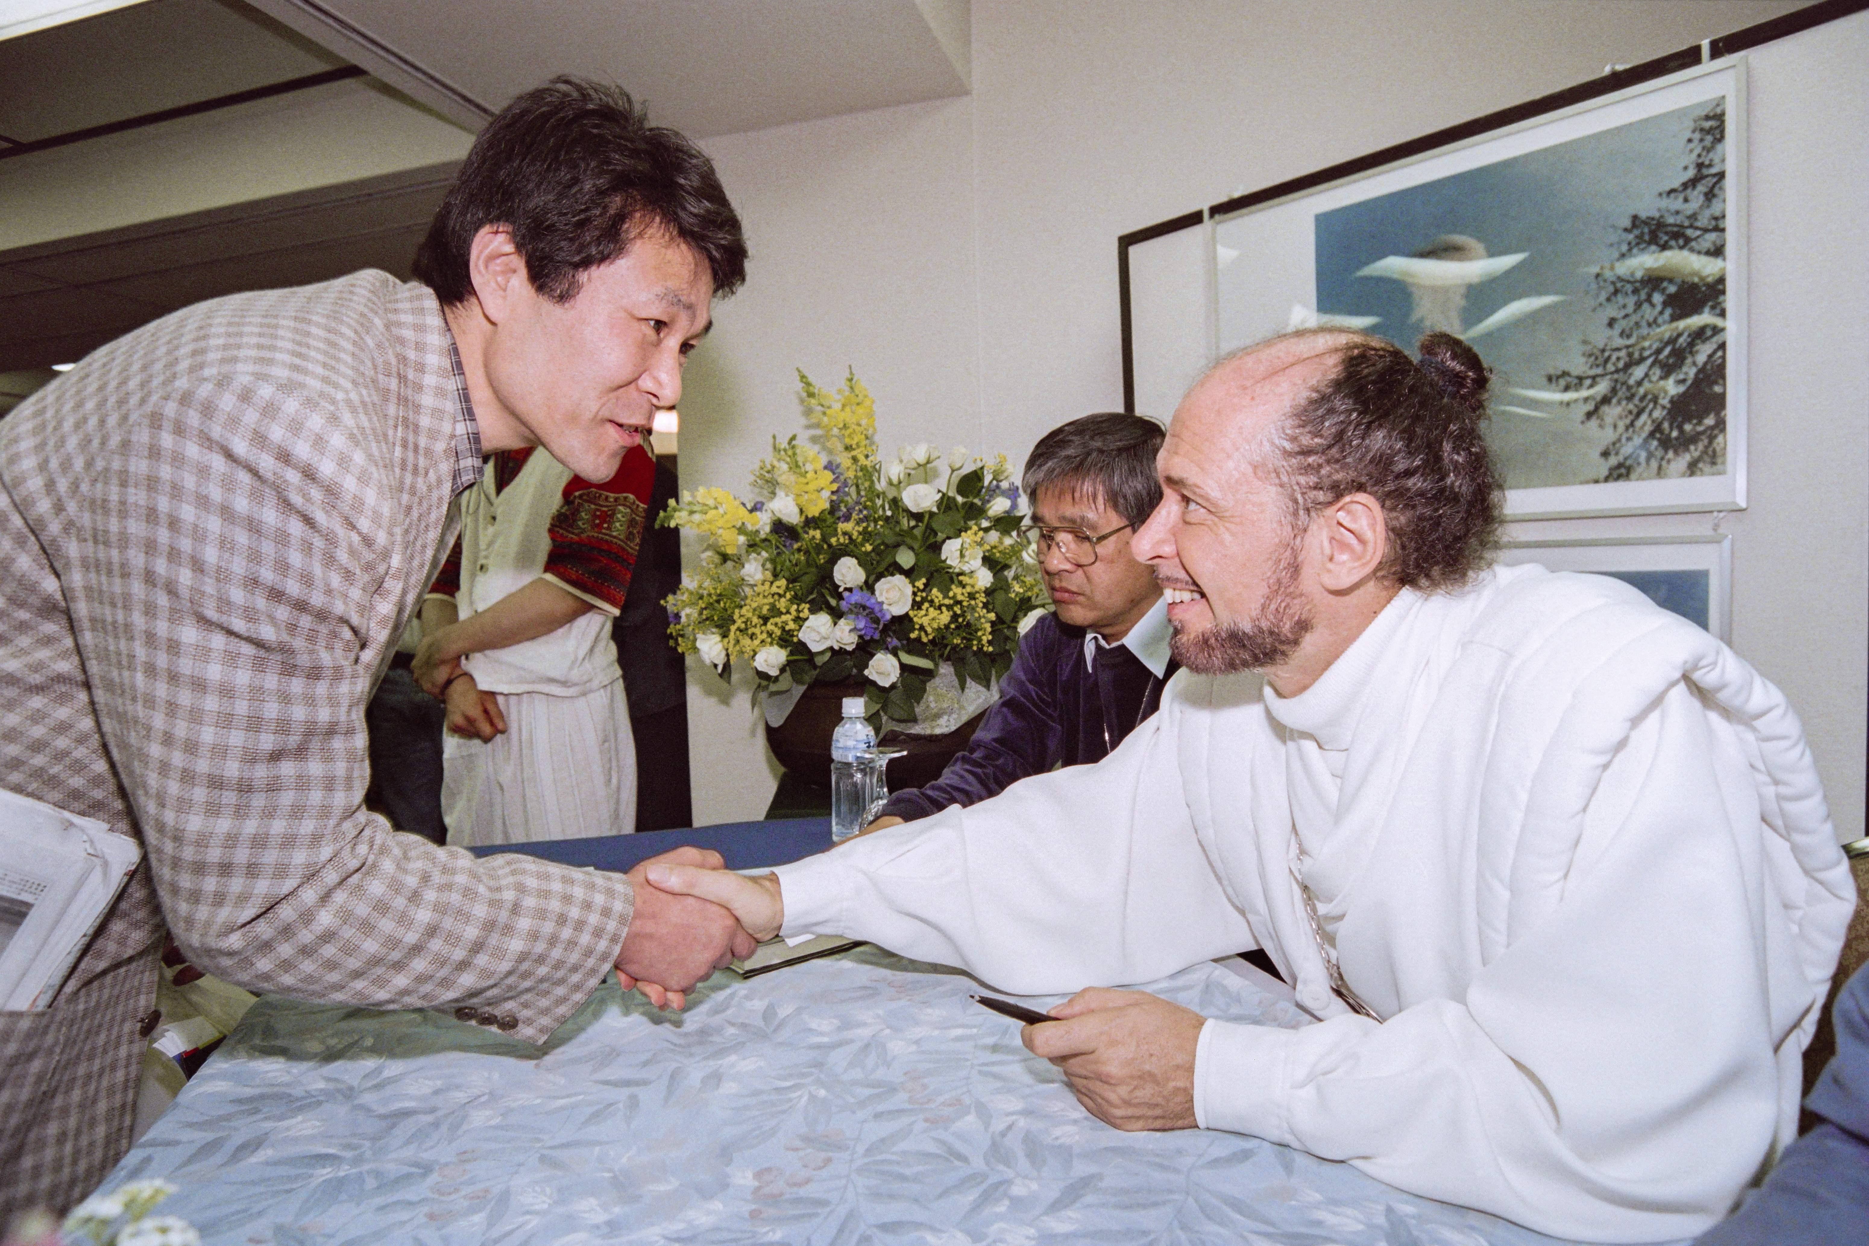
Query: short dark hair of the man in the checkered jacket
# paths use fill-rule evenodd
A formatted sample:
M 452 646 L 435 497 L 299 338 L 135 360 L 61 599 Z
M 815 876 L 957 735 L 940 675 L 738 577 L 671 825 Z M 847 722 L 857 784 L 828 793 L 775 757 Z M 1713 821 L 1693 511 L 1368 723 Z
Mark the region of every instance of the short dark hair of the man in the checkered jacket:
M 490 224 L 512 230 L 533 288 L 553 303 L 570 303 L 585 271 L 654 230 L 706 260 L 716 295 L 746 280 L 746 239 L 714 163 L 649 125 L 619 86 L 551 78 L 480 131 L 415 250 L 415 276 L 445 306 L 473 293 L 467 254 Z

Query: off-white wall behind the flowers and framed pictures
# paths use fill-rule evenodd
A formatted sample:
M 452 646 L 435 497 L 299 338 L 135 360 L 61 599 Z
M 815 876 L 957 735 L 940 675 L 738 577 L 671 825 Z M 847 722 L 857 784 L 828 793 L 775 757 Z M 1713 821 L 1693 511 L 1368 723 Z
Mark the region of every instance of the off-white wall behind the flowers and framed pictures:
M 748 290 L 718 308 L 720 329 L 690 372 L 682 484 L 744 488 L 766 439 L 800 432 L 794 366 L 819 381 L 856 366 L 877 394 L 886 446 L 936 439 L 1006 450 L 1017 461 L 1058 422 L 1121 405 L 1118 234 L 1794 7 L 974 0 L 970 97 L 705 144 L 746 219 L 753 263 Z M 1753 93 L 1764 108 L 1783 92 L 1787 118 L 1804 106 L 1791 92 L 1813 101 L 1828 93 L 1815 108 L 1832 114 L 1826 142 L 1781 138 L 1764 151 L 1772 127 L 1753 131 L 1755 189 L 1783 176 L 1774 194 L 1787 200 L 1800 192 L 1798 177 L 1860 177 L 1865 166 L 1860 120 L 1833 114 L 1837 92 L 1860 103 L 1850 65 L 1869 58 L 1835 30 L 1811 37 L 1832 49 L 1832 77 Z M 1796 230 L 1759 237 L 1770 215 L 1755 202 L 1753 319 L 1802 304 L 1802 319 L 1785 321 L 1779 340 L 1809 342 L 1815 331 L 1828 362 L 1813 370 L 1800 355 L 1755 353 L 1757 504 L 1727 531 L 1744 521 L 1753 525 L 1748 536 L 1762 538 L 1757 555 L 1736 542 L 1734 577 L 1748 602 L 1768 598 L 1770 609 L 1742 615 L 1734 639 L 1792 689 L 1839 822 L 1860 835 L 1863 387 L 1848 413 L 1856 422 L 1837 424 L 1837 387 L 1826 377 L 1869 372 L 1860 361 L 1863 316 L 1826 312 L 1848 299 L 1860 306 L 1863 267 L 1826 263 Z M 1854 245 L 1848 254 L 1860 258 L 1862 224 L 1848 228 L 1854 243 L 1826 234 L 1826 247 Z M 1772 336 L 1755 333 L 1755 351 Z M 1813 404 L 1837 426 L 1833 445 L 1757 450 L 1770 411 Z M 1832 512 L 1824 527 L 1837 540 L 1777 551 L 1794 542 L 1785 525 L 1805 510 L 1792 484 L 1800 480 L 1820 482 Z M 690 715 L 695 818 L 759 816 L 776 770 L 746 693 L 729 695 L 701 669 Z

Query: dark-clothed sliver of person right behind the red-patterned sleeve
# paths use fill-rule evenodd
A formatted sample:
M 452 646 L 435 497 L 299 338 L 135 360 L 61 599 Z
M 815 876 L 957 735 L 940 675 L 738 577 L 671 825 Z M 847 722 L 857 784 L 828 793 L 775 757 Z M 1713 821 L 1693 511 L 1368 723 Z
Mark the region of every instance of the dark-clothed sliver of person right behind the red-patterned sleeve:
M 639 831 L 669 831 L 695 822 L 688 781 L 688 663 L 669 644 L 669 609 L 663 605 L 682 585 L 682 534 L 656 525 L 675 501 L 673 461 L 673 454 L 656 458 L 649 531 L 635 555 L 630 596 L 611 624 L 622 686 L 630 689 Z

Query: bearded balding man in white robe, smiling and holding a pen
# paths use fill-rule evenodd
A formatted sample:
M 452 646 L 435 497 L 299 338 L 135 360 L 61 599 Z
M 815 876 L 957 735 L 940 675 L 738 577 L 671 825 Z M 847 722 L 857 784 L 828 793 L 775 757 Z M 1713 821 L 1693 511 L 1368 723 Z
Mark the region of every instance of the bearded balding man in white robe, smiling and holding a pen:
M 1486 372 L 1314 331 L 1222 361 L 1134 538 L 1187 667 L 1106 760 L 748 880 L 1006 990 L 1118 1128 L 1220 1128 L 1598 1242 L 1693 1237 L 1792 1140 L 1854 904 L 1783 695 L 1634 588 L 1490 568 Z M 1108 984 L 1262 947 L 1318 1016 Z

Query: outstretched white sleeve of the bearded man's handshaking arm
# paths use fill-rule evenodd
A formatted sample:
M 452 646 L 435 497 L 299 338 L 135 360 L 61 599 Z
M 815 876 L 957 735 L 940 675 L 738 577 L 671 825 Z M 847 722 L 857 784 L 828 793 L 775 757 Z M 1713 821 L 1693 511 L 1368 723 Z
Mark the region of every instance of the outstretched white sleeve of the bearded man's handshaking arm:
M 776 872 L 785 934 L 845 934 L 1015 994 L 1146 983 L 1254 947 L 1194 837 L 1164 708 L 1095 766 Z

